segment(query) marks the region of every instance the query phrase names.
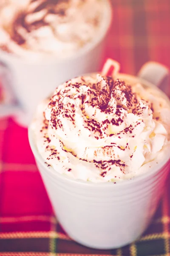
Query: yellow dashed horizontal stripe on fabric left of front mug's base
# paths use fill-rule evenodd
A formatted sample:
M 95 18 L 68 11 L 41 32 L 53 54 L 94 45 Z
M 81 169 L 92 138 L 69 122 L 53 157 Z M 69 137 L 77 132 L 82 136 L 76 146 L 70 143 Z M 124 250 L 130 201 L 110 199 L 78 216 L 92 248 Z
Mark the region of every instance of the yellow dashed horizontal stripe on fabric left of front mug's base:
M 23 239 L 23 238 L 59 238 L 67 241 L 71 240 L 68 236 L 59 232 L 54 232 L 54 231 L 0 233 L 0 239 Z

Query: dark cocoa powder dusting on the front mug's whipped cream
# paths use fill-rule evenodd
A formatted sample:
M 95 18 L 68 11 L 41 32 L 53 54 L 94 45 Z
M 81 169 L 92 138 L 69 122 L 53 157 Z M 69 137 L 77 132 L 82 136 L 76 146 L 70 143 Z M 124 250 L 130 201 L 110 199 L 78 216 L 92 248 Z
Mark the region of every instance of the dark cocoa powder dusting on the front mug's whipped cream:
M 136 93 L 133 93 L 132 87 L 128 84 L 125 84 L 125 81 L 121 81 L 117 79 L 115 82 L 113 78 L 110 76 L 105 77 L 106 84 L 101 81 L 97 82 L 96 84 L 88 84 L 89 88 L 86 90 L 85 86 L 87 86 L 85 77 L 80 78 L 82 83 L 75 82 L 74 84 L 71 83 L 71 81 L 68 81 L 68 84 L 66 84 L 66 87 L 63 88 L 61 91 L 58 91 L 55 96 L 53 96 L 50 99 L 50 103 L 48 105 L 49 108 L 51 108 L 51 125 L 53 129 L 61 129 L 62 131 L 64 130 L 63 124 L 64 122 L 62 119 L 67 119 L 71 122 L 73 125 L 73 129 L 76 128 L 76 121 L 75 121 L 75 115 L 77 111 L 77 102 L 79 104 L 79 109 L 82 111 L 82 116 L 83 116 L 83 128 L 88 129 L 92 135 L 96 138 L 96 140 L 107 138 L 107 137 L 112 137 L 116 134 L 116 136 L 121 139 L 121 134 L 128 134 L 131 137 L 135 137 L 133 130 L 138 126 L 141 125 L 141 121 L 137 121 L 136 123 L 133 123 L 129 125 L 128 127 L 125 127 L 122 131 L 119 131 L 117 133 L 113 134 L 107 134 L 108 132 L 108 127 L 109 125 L 116 125 L 120 126 L 124 122 L 124 117 L 126 116 L 127 113 L 142 113 L 142 111 L 145 110 L 146 107 L 143 107 L 139 104 L 137 101 Z M 103 83 L 102 83 L 103 82 Z M 103 85 L 104 84 L 104 85 Z M 85 92 L 82 90 L 85 88 Z M 116 92 L 117 90 L 121 91 L 123 94 L 122 96 L 119 96 L 119 94 Z M 73 92 L 73 93 L 72 93 Z M 119 104 L 114 103 L 114 99 L 119 102 Z M 121 104 L 121 101 L 124 101 L 126 99 L 127 101 L 127 106 Z M 74 100 L 76 104 L 74 104 Z M 115 104 L 110 104 L 111 100 L 113 100 L 113 103 Z M 124 101 L 125 102 L 125 101 Z M 102 114 L 105 114 L 105 119 L 103 121 L 98 121 L 95 118 L 96 112 L 92 116 L 88 116 L 86 114 L 86 104 L 90 105 L 91 108 L 99 109 Z M 113 108 L 114 107 L 114 108 Z M 152 106 L 151 106 L 152 107 Z M 116 108 L 116 109 L 115 109 Z M 114 113 L 113 113 L 114 111 Z M 113 115 L 112 115 L 113 113 Z M 111 114 L 108 119 L 108 114 Z M 93 118 L 94 116 L 94 118 Z M 111 118 L 113 116 L 113 118 Z M 156 117 L 157 119 L 157 117 Z M 44 121 L 44 128 L 48 128 L 48 122 Z M 125 124 L 126 125 L 126 124 Z M 43 130 L 42 129 L 42 130 Z M 81 130 L 78 131 L 78 134 L 80 136 Z M 66 134 L 65 134 L 66 135 Z M 45 140 L 50 143 L 50 139 L 45 136 Z M 60 141 L 60 144 L 62 146 L 62 150 L 65 152 L 69 152 L 69 154 L 72 154 L 74 157 L 77 157 L 74 152 L 71 150 L 68 150 L 65 148 L 64 144 Z M 128 143 L 126 144 L 125 148 L 123 146 L 117 145 L 116 143 L 111 143 L 111 145 L 104 146 L 103 148 L 100 148 L 99 151 L 98 149 L 94 150 L 94 159 L 91 161 L 88 161 L 87 159 L 80 158 L 80 160 L 89 162 L 89 163 L 94 163 L 97 169 L 102 170 L 100 173 L 101 177 L 105 177 L 109 170 L 113 166 L 117 166 L 120 168 L 120 170 L 125 173 L 125 168 L 127 167 L 125 165 L 125 162 L 119 159 L 119 155 L 117 156 L 114 153 L 115 148 L 119 148 L 121 151 L 125 151 L 126 148 L 129 148 Z M 83 157 L 86 156 L 86 151 L 88 148 L 85 148 L 85 152 Z M 130 149 L 130 148 L 129 148 Z M 49 148 L 47 149 L 49 150 Z M 60 160 L 59 156 L 57 156 L 57 151 L 56 150 L 51 150 L 50 157 L 56 157 L 57 160 Z M 118 151 L 118 152 L 121 152 Z M 108 159 L 108 156 L 112 156 L 113 159 L 110 160 L 95 160 L 98 157 L 98 152 L 99 154 L 102 152 L 102 155 Z M 116 156 L 116 157 L 115 157 Z M 130 159 L 133 157 L 133 154 L 130 155 Z M 118 159 L 115 159 L 118 158 Z M 68 169 L 68 172 L 71 172 L 71 169 Z

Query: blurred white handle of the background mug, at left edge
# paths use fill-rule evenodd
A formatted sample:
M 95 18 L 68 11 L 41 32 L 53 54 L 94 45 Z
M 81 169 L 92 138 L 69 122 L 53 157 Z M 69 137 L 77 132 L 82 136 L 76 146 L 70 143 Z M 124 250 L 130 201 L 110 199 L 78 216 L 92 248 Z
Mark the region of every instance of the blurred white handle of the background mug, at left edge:
M 20 111 L 11 83 L 11 74 L 8 67 L 0 61 L 0 86 L 5 94 L 5 102 L 0 102 L 0 118 L 5 116 L 15 116 Z

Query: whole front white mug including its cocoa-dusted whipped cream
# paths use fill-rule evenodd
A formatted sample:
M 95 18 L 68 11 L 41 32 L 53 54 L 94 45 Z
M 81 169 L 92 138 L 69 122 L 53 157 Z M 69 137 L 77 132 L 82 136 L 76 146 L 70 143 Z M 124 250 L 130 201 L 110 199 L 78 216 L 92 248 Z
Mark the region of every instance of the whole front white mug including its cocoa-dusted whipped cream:
M 99 249 L 142 235 L 170 169 L 170 100 L 155 87 L 167 87 L 169 70 L 148 62 L 138 77 L 116 75 L 119 65 L 111 62 L 114 81 L 107 67 L 71 79 L 39 105 L 28 129 L 59 223 L 75 241 Z

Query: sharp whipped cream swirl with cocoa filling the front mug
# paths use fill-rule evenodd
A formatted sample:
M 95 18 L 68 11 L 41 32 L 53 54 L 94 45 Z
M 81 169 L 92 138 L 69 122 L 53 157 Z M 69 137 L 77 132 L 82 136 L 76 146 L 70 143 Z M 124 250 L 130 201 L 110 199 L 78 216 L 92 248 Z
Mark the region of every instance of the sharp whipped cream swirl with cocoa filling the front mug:
M 38 151 L 57 172 L 117 182 L 161 160 L 170 146 L 167 116 L 157 90 L 97 74 L 59 86 L 39 105 L 33 127 Z

